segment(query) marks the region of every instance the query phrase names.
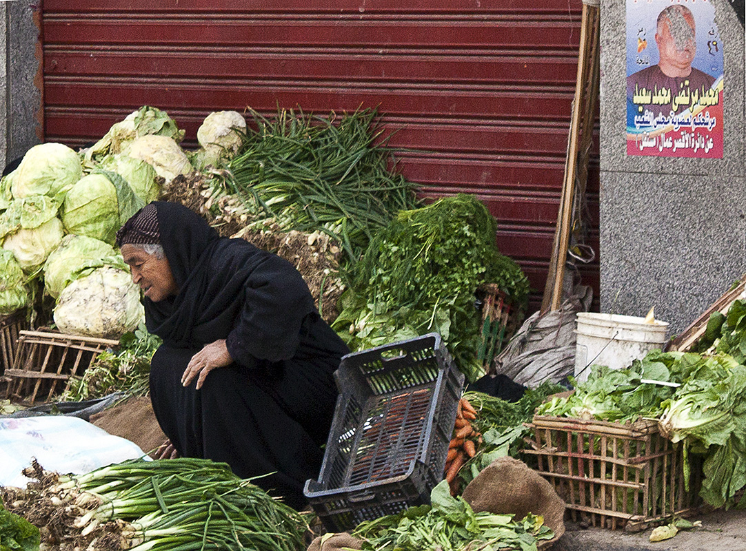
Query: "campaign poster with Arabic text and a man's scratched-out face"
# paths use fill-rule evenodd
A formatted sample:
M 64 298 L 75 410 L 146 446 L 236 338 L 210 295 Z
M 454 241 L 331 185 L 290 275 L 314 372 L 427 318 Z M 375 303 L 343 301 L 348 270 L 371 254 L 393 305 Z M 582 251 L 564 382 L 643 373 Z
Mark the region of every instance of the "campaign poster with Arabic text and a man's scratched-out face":
M 627 154 L 723 157 L 723 44 L 709 0 L 627 0 Z

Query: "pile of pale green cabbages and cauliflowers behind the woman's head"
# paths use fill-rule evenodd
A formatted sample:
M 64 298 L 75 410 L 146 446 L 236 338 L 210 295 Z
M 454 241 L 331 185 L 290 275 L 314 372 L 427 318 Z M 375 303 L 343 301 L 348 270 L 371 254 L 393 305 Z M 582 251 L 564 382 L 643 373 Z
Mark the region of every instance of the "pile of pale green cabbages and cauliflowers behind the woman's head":
M 141 107 L 83 151 L 35 145 L 0 179 L 0 317 L 53 300 L 63 333 L 119 338 L 143 318 L 116 230 L 179 174 L 237 150 L 245 120 L 212 113 L 186 152 L 168 114 Z

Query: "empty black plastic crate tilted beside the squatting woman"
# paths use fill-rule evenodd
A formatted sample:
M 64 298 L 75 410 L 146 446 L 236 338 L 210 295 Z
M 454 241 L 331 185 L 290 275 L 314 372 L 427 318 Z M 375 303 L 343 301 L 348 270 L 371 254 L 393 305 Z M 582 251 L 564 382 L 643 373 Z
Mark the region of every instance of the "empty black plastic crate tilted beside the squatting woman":
M 351 353 L 319 480 L 304 493 L 330 532 L 430 503 L 443 479 L 463 374 L 437 333 Z

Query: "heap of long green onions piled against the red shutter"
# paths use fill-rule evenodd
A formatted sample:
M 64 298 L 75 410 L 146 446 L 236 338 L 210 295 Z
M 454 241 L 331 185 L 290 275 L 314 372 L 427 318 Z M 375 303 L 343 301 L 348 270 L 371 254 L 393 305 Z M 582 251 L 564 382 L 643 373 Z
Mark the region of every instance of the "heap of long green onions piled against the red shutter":
M 281 110 L 256 112 L 216 193 L 237 195 L 257 224 L 284 231 L 322 230 L 357 262 L 373 234 L 395 212 L 416 206 L 415 187 L 391 170 L 390 151 L 374 110 L 329 117 Z

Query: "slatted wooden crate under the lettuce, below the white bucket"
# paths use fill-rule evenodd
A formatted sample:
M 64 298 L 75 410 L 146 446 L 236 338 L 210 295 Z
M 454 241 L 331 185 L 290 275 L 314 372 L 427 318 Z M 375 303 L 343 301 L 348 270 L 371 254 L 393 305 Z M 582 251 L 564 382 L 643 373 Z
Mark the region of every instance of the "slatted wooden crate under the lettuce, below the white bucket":
M 654 420 L 633 424 L 535 416 L 524 453 L 567 504 L 572 520 L 628 531 L 693 514 L 698 457 L 685 484 L 683 444 L 663 438 Z

